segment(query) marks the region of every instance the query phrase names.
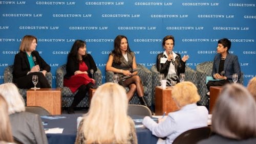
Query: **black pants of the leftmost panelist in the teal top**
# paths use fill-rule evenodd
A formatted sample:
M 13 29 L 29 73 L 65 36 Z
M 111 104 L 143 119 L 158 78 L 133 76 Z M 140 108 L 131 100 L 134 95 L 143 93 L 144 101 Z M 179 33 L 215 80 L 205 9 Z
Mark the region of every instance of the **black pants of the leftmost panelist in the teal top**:
M 42 74 L 40 72 L 35 72 L 35 73 L 29 74 L 27 76 L 20 77 L 20 78 L 16 79 L 14 81 L 14 83 L 17 85 L 18 88 L 29 89 L 31 87 L 34 87 L 34 84 L 32 82 L 32 76 L 33 75 L 37 75 L 37 77 L 38 77 L 38 82 L 36 84 L 36 87 L 51 88 L 51 86 L 48 83 L 48 81 L 47 81 L 46 77 L 44 76 L 44 74 Z

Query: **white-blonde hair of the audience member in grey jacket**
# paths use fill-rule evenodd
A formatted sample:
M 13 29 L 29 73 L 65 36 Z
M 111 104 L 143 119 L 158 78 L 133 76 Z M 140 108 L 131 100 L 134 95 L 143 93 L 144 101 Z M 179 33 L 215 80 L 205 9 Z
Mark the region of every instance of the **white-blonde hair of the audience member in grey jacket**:
M 25 111 L 25 102 L 18 92 L 18 88 L 13 83 L 4 83 L 0 85 L 0 94 L 3 95 L 8 104 L 8 113 Z

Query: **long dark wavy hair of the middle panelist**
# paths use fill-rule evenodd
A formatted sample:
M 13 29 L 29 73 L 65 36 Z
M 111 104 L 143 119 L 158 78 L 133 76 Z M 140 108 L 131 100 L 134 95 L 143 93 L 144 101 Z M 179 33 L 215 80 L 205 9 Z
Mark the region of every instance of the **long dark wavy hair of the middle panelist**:
M 130 46 L 129 46 L 129 43 L 128 43 L 128 39 L 126 36 L 123 36 L 123 35 L 118 35 L 116 38 L 115 38 L 115 41 L 114 41 L 114 50 L 112 51 L 113 54 L 115 54 L 114 56 L 114 59 L 113 61 L 117 64 L 120 64 L 121 63 L 121 58 L 122 58 L 122 52 L 120 50 L 120 45 L 121 45 L 121 40 L 125 38 L 127 40 L 127 53 L 131 53 L 131 49 L 130 49 Z

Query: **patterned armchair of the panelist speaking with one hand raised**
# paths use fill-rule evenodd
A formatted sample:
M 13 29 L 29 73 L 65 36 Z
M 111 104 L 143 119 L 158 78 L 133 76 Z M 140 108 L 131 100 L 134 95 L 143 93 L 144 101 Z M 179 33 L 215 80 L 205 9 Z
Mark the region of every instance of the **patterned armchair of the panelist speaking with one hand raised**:
M 153 81 L 152 81 L 152 103 L 155 104 L 155 90 L 156 86 L 160 85 L 159 82 L 159 77 L 158 75 L 160 74 L 159 71 L 157 71 L 156 65 L 153 65 L 151 67 L 151 71 L 153 73 Z M 186 65 L 185 67 L 185 80 L 193 82 L 197 86 L 197 73 L 196 70 L 190 68 L 189 66 Z

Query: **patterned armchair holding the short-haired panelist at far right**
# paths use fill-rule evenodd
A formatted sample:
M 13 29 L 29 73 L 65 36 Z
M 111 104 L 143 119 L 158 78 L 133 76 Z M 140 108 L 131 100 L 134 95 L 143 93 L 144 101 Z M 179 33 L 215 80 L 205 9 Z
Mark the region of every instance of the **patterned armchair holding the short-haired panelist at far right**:
M 201 96 L 201 100 L 199 101 L 199 103 L 201 105 L 208 105 L 208 97 L 206 96 L 206 92 L 208 92 L 208 89 L 206 86 L 206 76 L 211 76 L 213 65 L 214 65 L 213 61 L 206 61 L 206 62 L 202 62 L 196 66 L 197 81 L 198 81 L 198 93 Z M 239 79 L 239 83 L 243 84 L 244 76 L 243 76 L 243 73 L 241 73 L 241 74 L 242 74 L 242 76 Z

